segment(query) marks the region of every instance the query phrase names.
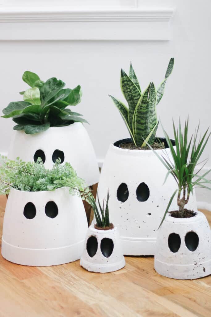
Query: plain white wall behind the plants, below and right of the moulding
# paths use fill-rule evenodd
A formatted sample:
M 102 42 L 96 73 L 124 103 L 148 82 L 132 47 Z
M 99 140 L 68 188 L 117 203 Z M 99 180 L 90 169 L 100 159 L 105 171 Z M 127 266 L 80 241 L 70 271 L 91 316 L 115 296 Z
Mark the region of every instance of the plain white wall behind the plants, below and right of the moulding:
M 159 1 L 166 6 L 169 1 Z M 125 2 L 127 3 L 127 1 Z M 159 7 L 158 1 L 142 1 Z M 83 99 L 75 110 L 90 122 L 87 126 L 96 149 L 103 160 L 113 140 L 127 136 L 127 129 L 108 94 L 123 100 L 120 89 L 120 69 L 126 71 L 130 61 L 145 88 L 149 81 L 156 85 L 163 80 L 170 57 L 175 67 L 166 84 L 158 116 L 172 134 L 171 119 L 187 118 L 193 129 L 198 120 L 201 130 L 210 125 L 210 10 L 204 0 L 175 0 L 175 15 L 171 21 L 171 41 L 1 41 L 0 86 L 3 109 L 10 101 L 21 100 L 19 91 L 26 88 L 22 81 L 25 70 L 31 70 L 46 80 L 52 76 L 62 79 L 67 87 L 78 84 Z M 143 89 L 142 88 L 142 89 Z M 13 133 L 11 119 L 0 119 L 0 152 L 7 152 Z M 158 135 L 162 135 L 161 127 Z M 211 140 L 204 151 L 208 157 Z M 209 161 L 208 165 L 211 165 Z

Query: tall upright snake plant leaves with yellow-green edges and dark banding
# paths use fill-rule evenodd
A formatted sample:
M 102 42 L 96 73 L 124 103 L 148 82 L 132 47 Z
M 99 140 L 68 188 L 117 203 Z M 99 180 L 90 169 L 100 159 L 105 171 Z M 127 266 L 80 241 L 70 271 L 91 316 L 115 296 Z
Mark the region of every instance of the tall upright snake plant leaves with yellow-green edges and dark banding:
M 153 145 L 155 141 L 159 123 L 156 107 L 163 97 L 165 83 L 172 72 L 173 65 L 174 58 L 171 58 L 165 78 L 158 89 L 155 88 L 153 82 L 150 82 L 142 93 L 132 64 L 130 64 L 129 76 L 121 69 L 121 90 L 127 100 L 128 107 L 120 100 L 109 95 L 121 113 L 130 136 L 137 147 L 145 147 L 146 142 Z

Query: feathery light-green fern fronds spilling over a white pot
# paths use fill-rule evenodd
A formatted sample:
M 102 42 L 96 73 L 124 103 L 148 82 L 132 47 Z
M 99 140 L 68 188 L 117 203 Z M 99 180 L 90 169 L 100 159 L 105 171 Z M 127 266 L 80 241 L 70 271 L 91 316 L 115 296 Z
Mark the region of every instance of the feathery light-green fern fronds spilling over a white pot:
M 83 179 L 69 163 L 60 165 L 57 160 L 51 170 L 45 169 L 39 158 L 37 162 L 15 161 L 0 156 L 0 194 L 9 194 L 11 188 L 21 191 L 54 191 L 57 188 L 68 187 L 70 194 L 78 194 L 88 203 L 93 203 L 94 197 Z

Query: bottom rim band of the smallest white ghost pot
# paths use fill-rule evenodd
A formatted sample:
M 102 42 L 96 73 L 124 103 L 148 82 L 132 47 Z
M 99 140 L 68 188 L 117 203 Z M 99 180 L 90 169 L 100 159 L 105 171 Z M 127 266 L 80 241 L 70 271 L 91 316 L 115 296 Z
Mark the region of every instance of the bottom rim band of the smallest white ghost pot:
M 94 264 L 90 263 L 84 259 L 81 259 L 80 265 L 89 272 L 95 273 L 109 273 L 118 271 L 125 266 L 125 259 L 123 258 L 120 262 L 111 263 L 111 264 Z

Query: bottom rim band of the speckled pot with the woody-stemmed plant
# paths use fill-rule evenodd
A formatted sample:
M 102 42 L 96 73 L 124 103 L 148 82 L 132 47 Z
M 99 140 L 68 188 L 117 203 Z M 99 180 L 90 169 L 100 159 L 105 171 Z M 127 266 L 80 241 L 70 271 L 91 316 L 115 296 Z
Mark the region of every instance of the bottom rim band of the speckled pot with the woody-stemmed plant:
M 155 258 L 154 267 L 160 275 L 177 280 L 193 280 L 211 274 L 211 260 L 189 265 L 173 265 Z

